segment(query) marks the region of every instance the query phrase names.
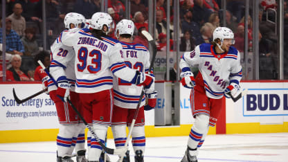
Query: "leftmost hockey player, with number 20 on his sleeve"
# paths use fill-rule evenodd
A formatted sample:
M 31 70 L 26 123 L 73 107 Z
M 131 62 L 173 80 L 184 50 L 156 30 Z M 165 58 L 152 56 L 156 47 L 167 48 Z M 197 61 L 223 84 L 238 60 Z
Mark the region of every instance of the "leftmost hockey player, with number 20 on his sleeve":
M 70 12 L 64 18 L 64 25 L 69 31 L 76 31 L 83 28 L 85 18 L 83 15 Z M 51 99 L 55 102 L 57 115 L 60 121 L 59 133 L 57 134 L 57 162 L 73 161 L 71 159 L 73 150 L 77 153 L 78 162 L 86 162 L 84 124 L 75 113 L 71 105 L 63 98 L 63 93 L 70 93 L 71 102 L 81 111 L 78 100 L 79 94 L 75 93 L 75 53 L 72 47 L 64 46 L 61 42 L 61 35 L 51 46 L 50 73 L 58 84 L 56 91 L 50 91 Z M 70 91 L 66 91 L 66 88 Z M 50 89 L 49 89 L 50 90 Z

